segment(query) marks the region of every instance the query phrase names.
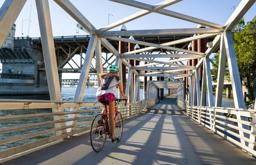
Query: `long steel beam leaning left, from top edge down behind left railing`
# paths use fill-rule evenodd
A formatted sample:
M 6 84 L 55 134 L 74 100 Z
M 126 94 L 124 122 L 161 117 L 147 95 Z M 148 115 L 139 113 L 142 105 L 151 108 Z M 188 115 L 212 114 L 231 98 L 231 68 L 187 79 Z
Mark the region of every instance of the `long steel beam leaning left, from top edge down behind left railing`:
M 17 4 L 16 4 L 17 5 Z M 36 1 L 37 16 L 43 47 L 44 64 L 47 76 L 47 83 L 51 100 L 61 101 L 61 87 L 59 83 L 57 60 L 54 48 L 52 23 L 50 19 L 49 3 L 45 0 Z M 63 106 L 52 108 L 52 112 L 63 112 Z M 64 115 L 54 116 L 54 120 L 64 119 Z M 65 123 L 57 123 L 55 127 L 65 126 Z M 57 131 L 57 135 L 65 131 Z

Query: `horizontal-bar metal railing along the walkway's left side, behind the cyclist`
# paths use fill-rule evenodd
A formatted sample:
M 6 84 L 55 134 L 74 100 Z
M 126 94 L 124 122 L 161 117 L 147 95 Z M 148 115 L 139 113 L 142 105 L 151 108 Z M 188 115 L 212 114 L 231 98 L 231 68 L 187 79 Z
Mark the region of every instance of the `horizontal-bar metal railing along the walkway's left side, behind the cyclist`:
M 153 100 L 150 100 L 149 103 L 153 105 Z M 123 103 L 121 103 L 119 109 L 119 112 L 122 113 L 123 119 L 131 118 L 135 115 L 141 114 L 142 110 L 145 108 L 146 102 L 142 103 L 127 103 L 126 106 L 124 106 Z M 100 108 L 99 108 L 100 107 Z M 69 111 L 69 109 L 66 109 L 65 112 L 52 112 L 49 109 L 49 112 L 47 113 L 30 113 L 31 109 L 46 109 L 46 108 L 76 108 L 80 110 L 75 111 Z M 24 114 L 19 115 L 8 115 L 6 111 L 8 110 L 23 110 Z M 26 111 L 27 110 L 27 111 Z M 67 111 L 68 110 L 68 111 Z M 1 113 L 5 112 L 5 113 Z M 80 133 L 85 133 L 89 131 L 91 128 L 91 123 L 94 118 L 94 116 L 102 111 L 102 104 L 99 102 L 71 102 L 71 101 L 51 101 L 51 100 L 10 100 L 10 99 L 2 99 L 0 100 L 0 113 L 2 114 L 0 116 L 0 123 L 4 125 L 4 122 L 10 122 L 12 121 L 10 126 L 8 127 L 1 127 L 0 128 L 0 137 L 2 133 L 8 132 L 7 138 L 0 138 L 0 145 L 5 145 L 7 143 L 13 143 L 21 141 L 21 140 L 27 140 L 28 138 L 32 137 L 38 137 L 40 135 L 45 135 L 48 133 L 54 133 L 54 135 L 51 135 L 47 138 L 39 138 L 40 140 L 25 143 L 23 145 L 18 145 L 13 148 L 8 148 L 6 150 L 0 151 L 0 159 L 3 159 L 5 157 L 12 156 L 14 154 L 18 154 L 27 150 L 31 150 L 33 148 L 51 143 L 56 142 L 59 139 L 63 139 L 69 136 L 73 136 Z M 92 114 L 96 113 L 96 114 Z M 6 115 L 3 115 L 6 114 Z M 69 114 L 76 114 L 73 118 L 67 118 L 67 115 Z M 83 114 L 83 115 L 78 115 Z M 66 117 L 64 117 L 66 115 Z M 48 120 L 40 120 L 42 118 L 47 118 Z M 51 120 L 49 120 L 49 117 L 54 117 Z M 59 117 L 59 118 L 56 118 Z M 38 119 L 34 122 L 31 119 Z M 16 124 L 19 120 L 22 121 L 22 124 Z M 69 121 L 78 121 L 82 120 L 77 123 L 73 123 L 71 125 L 66 125 L 66 122 Z M 59 124 L 58 126 L 56 124 Z M 54 127 L 54 125 L 56 127 Z M 48 129 L 39 129 L 41 126 L 52 126 Z M 84 126 L 83 128 L 79 128 L 81 126 Z M 18 130 L 26 130 L 32 128 L 31 131 L 28 131 L 29 133 L 19 133 L 17 136 L 11 136 L 12 132 L 18 131 Z M 67 132 L 67 128 L 71 128 L 71 132 Z M 75 129 L 78 128 L 78 129 Z M 60 133 L 58 133 L 60 132 Z M 56 134 L 55 134 L 56 133 Z

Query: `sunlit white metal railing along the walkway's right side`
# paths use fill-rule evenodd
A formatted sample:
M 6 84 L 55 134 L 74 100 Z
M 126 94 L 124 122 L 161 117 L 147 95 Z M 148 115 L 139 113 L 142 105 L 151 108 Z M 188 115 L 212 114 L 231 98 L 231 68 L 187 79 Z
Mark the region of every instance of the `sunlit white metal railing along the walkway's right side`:
M 249 154 L 256 156 L 256 110 L 241 108 L 187 106 L 186 112 L 187 116 L 191 119 L 211 129 L 225 140 L 228 140 Z M 226 117 L 221 115 L 223 113 L 233 115 L 239 114 L 241 116 L 250 117 L 252 118 L 252 122 Z M 244 129 L 242 125 L 249 126 L 250 130 Z M 242 136 L 239 134 L 239 132 L 247 134 L 250 138 L 248 138 L 248 136 Z

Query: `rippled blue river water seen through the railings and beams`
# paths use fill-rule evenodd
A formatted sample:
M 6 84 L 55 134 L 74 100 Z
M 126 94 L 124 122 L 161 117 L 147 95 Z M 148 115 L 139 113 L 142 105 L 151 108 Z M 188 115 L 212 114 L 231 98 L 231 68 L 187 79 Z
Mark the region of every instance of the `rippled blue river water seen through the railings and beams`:
M 67 87 L 67 86 L 62 86 L 62 100 L 64 101 L 72 101 L 75 95 L 75 87 Z M 84 96 L 82 101 L 85 102 L 97 102 L 96 99 L 96 91 L 97 88 L 85 88 L 84 91 Z M 164 90 L 164 94 L 167 93 L 167 90 Z M 118 89 L 115 90 L 115 95 L 118 96 Z M 143 99 L 143 89 L 140 89 L 140 98 Z M 0 96 L 2 99 L 39 99 L 39 100 L 50 100 L 49 95 L 22 95 L 22 96 Z M 223 95 L 222 98 L 222 106 L 223 107 L 234 107 L 234 101 L 233 98 L 226 98 L 225 95 Z M 85 109 L 95 109 L 96 107 L 83 107 L 81 110 Z M 70 108 L 64 108 L 64 111 L 69 111 Z M 21 114 L 33 114 L 33 113 L 49 113 L 51 112 L 51 109 L 17 109 L 17 110 L 0 110 L 0 116 L 7 116 L 7 115 L 21 115 Z M 84 113 L 84 114 L 79 114 L 79 116 L 84 116 L 84 115 L 92 115 L 92 114 L 97 114 L 98 112 L 93 112 L 93 113 Z M 65 115 L 65 118 L 67 118 L 68 115 Z M 33 119 L 23 119 L 23 120 L 16 120 L 16 121 L 5 121 L 5 122 L 0 122 L 0 128 L 1 127 L 11 127 L 11 126 L 17 126 L 17 125 L 22 125 L 22 124 L 28 124 L 28 123 L 36 123 L 36 122 L 44 122 L 44 121 L 51 121 L 53 120 L 53 117 L 44 117 L 44 118 L 33 118 Z M 92 118 L 88 119 L 81 119 L 78 120 L 79 122 L 84 122 L 84 121 L 89 121 L 92 120 Z M 226 122 L 226 121 L 225 121 Z M 235 123 L 233 123 L 235 124 Z M 87 127 L 88 125 L 83 125 L 76 127 L 76 129 Z M 54 125 L 48 125 L 48 126 L 41 126 L 41 127 L 35 127 L 35 128 L 28 128 L 25 130 L 18 130 L 18 131 L 12 131 L 12 132 L 5 132 L 5 133 L 0 133 L 0 139 L 5 139 L 5 138 L 10 138 L 10 137 L 15 137 L 18 135 L 24 135 L 27 133 L 32 133 L 32 132 L 37 132 L 41 131 L 44 129 L 51 129 L 54 128 Z M 43 138 L 47 138 L 50 136 L 56 135 L 55 133 L 48 133 L 45 135 L 40 135 L 37 137 L 32 137 L 28 138 L 26 140 L 21 140 L 13 143 L 8 143 L 5 145 L 0 145 L 0 151 L 5 150 L 11 147 L 19 146 L 22 144 L 26 144 L 29 142 L 33 142 L 36 140 L 40 140 Z M 237 139 L 236 139 L 237 140 Z

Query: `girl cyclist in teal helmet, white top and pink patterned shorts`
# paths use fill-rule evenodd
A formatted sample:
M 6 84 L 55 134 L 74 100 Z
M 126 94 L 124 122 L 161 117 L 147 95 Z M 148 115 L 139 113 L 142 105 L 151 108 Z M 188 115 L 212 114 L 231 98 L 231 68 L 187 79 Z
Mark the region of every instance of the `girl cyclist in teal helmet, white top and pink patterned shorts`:
M 112 143 L 118 142 L 118 138 L 115 137 L 115 120 L 114 120 L 114 111 L 115 111 L 115 89 L 116 85 L 118 86 L 119 93 L 125 98 L 128 99 L 122 89 L 121 80 L 118 76 L 118 67 L 116 65 L 110 65 L 107 67 L 107 73 L 100 74 L 101 87 L 98 88 L 96 96 L 97 100 L 106 100 L 109 103 L 109 119 L 110 119 L 110 129 L 112 134 Z M 102 103 L 103 104 L 103 103 Z M 104 104 L 103 104 L 104 105 Z M 103 114 L 103 111 L 102 111 Z M 100 122 L 100 121 L 99 121 Z

